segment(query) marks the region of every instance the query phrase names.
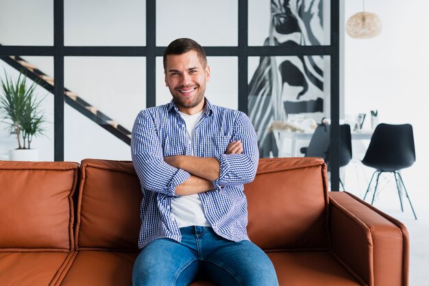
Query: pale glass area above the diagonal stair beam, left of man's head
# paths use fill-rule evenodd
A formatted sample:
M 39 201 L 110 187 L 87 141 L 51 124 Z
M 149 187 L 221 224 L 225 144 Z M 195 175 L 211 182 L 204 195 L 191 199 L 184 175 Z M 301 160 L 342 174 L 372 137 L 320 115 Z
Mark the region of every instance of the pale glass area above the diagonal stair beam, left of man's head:
M 146 107 L 145 57 L 65 57 L 64 86 L 131 130 Z

